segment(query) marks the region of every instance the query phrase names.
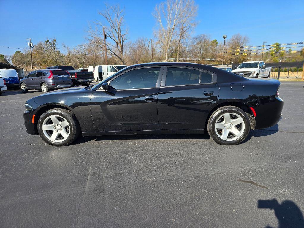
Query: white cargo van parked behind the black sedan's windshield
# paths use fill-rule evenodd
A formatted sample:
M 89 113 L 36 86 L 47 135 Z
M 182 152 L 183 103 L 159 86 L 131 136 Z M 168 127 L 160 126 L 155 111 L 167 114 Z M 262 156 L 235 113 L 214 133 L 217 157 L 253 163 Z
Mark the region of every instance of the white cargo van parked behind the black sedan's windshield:
M 126 65 L 97 65 L 95 66 L 95 68 L 93 66 L 89 66 L 89 71 L 93 71 L 94 79 L 96 81 L 102 81 L 125 67 L 127 66 Z

